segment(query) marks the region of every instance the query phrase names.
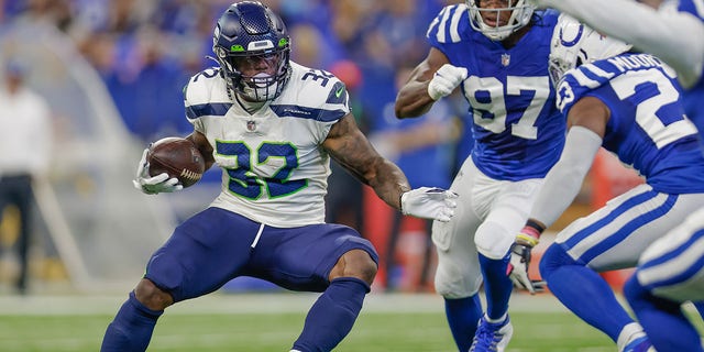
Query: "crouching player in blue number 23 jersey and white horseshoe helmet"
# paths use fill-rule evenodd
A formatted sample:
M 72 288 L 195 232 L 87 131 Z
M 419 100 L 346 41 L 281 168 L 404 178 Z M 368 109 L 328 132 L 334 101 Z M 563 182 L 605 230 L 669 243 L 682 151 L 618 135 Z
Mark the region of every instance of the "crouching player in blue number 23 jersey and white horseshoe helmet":
M 535 245 L 569 207 L 601 146 L 631 165 L 646 184 L 558 233 L 540 274 L 564 306 L 608 334 L 618 351 L 650 351 L 642 327 L 597 273 L 636 266 L 650 243 L 704 207 L 697 131 L 676 75 L 659 58 L 627 52 L 630 45 L 575 20 L 561 21 L 556 31 L 551 76 L 569 132 L 518 242 Z

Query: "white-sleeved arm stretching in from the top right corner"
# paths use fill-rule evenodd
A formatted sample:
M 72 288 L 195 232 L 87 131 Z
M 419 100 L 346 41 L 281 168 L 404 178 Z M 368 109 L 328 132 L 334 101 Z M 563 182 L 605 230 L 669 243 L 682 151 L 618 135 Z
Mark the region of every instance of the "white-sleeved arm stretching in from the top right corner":
M 653 54 L 674 68 L 686 88 L 698 80 L 704 65 L 704 23 L 670 6 L 657 11 L 631 0 L 540 0 L 588 26 Z M 624 15 L 628 13 L 628 15 Z

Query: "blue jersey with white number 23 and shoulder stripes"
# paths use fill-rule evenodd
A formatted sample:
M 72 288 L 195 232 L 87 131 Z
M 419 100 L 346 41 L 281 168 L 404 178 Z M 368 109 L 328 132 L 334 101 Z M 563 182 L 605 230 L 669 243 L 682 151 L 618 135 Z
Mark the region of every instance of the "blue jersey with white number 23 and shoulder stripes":
M 704 155 L 682 105 L 676 75 L 648 54 L 626 53 L 568 72 L 558 88 L 566 116 L 583 97 L 610 110 L 603 146 L 646 177 L 653 190 L 704 193 Z

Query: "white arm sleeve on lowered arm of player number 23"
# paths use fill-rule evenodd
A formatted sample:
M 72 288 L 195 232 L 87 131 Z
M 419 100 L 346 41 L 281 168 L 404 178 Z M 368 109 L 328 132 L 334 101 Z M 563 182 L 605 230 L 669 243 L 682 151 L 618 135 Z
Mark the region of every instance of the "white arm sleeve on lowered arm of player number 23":
M 550 227 L 576 197 L 594 156 L 602 145 L 602 138 L 583 127 L 572 127 L 568 132 L 564 150 L 546 176 L 530 219 Z

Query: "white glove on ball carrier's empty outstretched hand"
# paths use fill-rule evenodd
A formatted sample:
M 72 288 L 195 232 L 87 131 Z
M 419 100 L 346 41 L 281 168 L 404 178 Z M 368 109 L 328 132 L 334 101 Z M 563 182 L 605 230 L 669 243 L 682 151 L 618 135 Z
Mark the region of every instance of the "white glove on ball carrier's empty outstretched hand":
M 420 187 L 400 196 L 400 212 L 416 218 L 450 221 L 454 216 L 458 194 L 436 187 Z

